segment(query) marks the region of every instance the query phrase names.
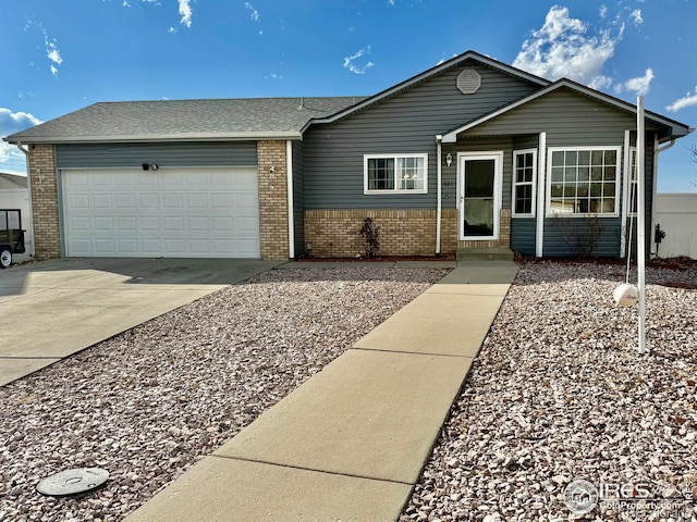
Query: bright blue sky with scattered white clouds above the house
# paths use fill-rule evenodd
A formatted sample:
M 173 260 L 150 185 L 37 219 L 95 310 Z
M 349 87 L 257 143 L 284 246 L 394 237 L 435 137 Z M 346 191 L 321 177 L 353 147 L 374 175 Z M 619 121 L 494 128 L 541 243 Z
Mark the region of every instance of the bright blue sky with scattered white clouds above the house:
M 697 127 L 696 2 L 0 0 L 0 136 L 97 101 L 374 95 L 466 50 Z M 696 144 L 660 191 L 696 190 Z

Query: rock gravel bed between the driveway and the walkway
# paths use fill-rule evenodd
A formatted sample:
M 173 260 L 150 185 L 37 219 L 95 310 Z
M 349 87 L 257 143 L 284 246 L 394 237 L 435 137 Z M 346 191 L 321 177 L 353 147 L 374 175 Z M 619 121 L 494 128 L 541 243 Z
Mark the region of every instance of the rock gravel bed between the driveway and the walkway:
M 0 388 L 0 521 L 115 521 L 445 275 L 276 270 Z M 80 498 L 35 490 L 101 467 Z

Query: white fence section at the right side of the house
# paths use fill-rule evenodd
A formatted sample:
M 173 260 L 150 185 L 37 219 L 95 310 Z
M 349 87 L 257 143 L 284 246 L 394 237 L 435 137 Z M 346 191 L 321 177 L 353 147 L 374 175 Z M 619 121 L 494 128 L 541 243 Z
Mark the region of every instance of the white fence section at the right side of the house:
M 656 223 L 665 232 L 659 258 L 697 259 L 697 194 L 657 194 Z

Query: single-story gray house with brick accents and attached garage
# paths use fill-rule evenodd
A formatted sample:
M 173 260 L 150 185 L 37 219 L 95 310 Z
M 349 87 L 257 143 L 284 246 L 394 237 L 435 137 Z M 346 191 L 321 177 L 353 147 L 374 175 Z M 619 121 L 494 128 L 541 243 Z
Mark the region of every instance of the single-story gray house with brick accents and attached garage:
M 468 51 L 370 97 L 95 103 L 4 139 L 38 258 L 353 257 L 368 216 L 383 256 L 568 256 L 592 221 L 619 257 L 636 114 Z M 646 112 L 648 215 L 658 152 L 692 130 Z

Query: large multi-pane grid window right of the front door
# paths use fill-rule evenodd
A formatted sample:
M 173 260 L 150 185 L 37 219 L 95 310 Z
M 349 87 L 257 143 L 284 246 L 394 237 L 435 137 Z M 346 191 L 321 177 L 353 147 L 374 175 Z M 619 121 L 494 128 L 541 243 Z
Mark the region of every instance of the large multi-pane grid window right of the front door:
M 620 147 L 549 151 L 548 215 L 617 215 Z

